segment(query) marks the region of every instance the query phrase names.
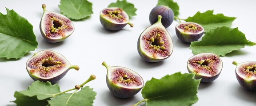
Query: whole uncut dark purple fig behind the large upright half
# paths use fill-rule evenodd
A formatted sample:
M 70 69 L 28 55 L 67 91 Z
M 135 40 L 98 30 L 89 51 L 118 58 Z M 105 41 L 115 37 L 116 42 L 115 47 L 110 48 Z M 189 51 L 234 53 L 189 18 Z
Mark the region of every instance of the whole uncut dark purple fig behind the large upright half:
M 174 13 L 172 9 L 167 6 L 160 5 L 153 8 L 149 14 L 149 22 L 151 25 L 157 22 L 158 15 L 162 16 L 161 22 L 165 28 L 169 27 L 174 20 Z

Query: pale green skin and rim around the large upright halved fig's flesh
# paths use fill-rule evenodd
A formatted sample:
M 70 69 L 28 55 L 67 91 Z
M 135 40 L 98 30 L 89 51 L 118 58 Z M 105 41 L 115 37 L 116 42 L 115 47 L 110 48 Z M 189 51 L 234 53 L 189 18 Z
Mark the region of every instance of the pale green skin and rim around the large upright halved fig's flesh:
M 158 21 L 156 23 L 154 23 L 153 25 L 149 26 L 148 28 L 152 27 L 152 26 L 156 26 L 156 25 L 160 25 L 162 26 L 162 30 L 166 30 L 165 27 L 162 25 L 161 23 L 161 15 L 158 15 Z M 144 60 L 144 61 L 147 61 L 147 62 L 160 62 L 160 61 L 163 61 L 165 59 L 167 59 L 168 57 L 171 56 L 172 54 L 172 51 L 173 51 L 173 42 L 172 42 L 172 38 L 171 36 L 168 34 L 168 31 L 166 30 L 166 36 L 169 36 L 168 38 L 168 42 L 170 43 L 170 47 L 166 47 L 170 50 L 170 53 L 166 56 L 166 57 L 153 57 L 152 54 L 148 54 L 146 53 L 146 51 L 143 50 L 143 45 L 141 45 L 141 38 L 144 36 L 144 32 L 146 30 L 148 30 L 148 28 L 146 28 L 141 34 L 140 34 L 140 37 L 138 38 L 138 41 L 137 41 L 137 51 L 140 55 L 140 57 Z M 144 43 L 144 42 L 142 42 Z M 148 44 L 150 45 L 150 44 Z

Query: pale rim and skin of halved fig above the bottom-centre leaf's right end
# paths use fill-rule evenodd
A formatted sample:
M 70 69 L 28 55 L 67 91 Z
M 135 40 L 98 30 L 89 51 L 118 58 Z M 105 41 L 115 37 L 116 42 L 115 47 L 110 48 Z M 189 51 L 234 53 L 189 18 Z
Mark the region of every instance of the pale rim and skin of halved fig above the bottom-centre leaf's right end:
M 197 73 L 197 72 L 195 72 L 194 70 L 196 70 L 196 68 L 197 67 L 192 67 L 192 66 L 190 66 L 189 65 L 189 62 L 190 62 L 190 60 L 192 60 L 192 59 L 194 59 L 194 58 L 202 58 L 202 57 L 204 57 L 204 56 L 206 56 L 207 57 L 207 55 L 208 56 L 210 56 L 210 55 L 212 55 L 212 56 L 216 56 L 217 57 L 217 63 L 218 63 L 218 65 L 216 66 L 216 67 L 218 67 L 217 68 L 217 74 L 216 75 L 214 75 L 214 76 L 206 76 L 206 75 L 201 75 L 200 73 Z M 201 60 L 202 61 L 202 60 Z M 201 64 L 200 64 L 201 65 Z M 200 66 L 201 67 L 201 66 Z M 200 82 L 202 82 L 202 83 L 209 83 L 209 82 L 212 82 L 212 81 L 214 81 L 215 79 L 217 79 L 219 76 L 220 76 L 220 73 L 221 73 L 221 70 L 222 70 L 222 67 L 223 67 L 223 62 L 222 62 L 222 60 L 220 59 L 220 57 L 218 57 L 216 54 L 213 54 L 213 53 L 199 53 L 199 54 L 196 54 L 196 55 L 194 55 L 194 56 L 192 56 L 192 57 L 190 57 L 189 59 L 188 59 L 188 62 L 187 62 L 187 69 L 188 69 L 188 72 L 189 73 L 194 73 L 195 74 L 195 79 L 201 79 L 201 81 Z

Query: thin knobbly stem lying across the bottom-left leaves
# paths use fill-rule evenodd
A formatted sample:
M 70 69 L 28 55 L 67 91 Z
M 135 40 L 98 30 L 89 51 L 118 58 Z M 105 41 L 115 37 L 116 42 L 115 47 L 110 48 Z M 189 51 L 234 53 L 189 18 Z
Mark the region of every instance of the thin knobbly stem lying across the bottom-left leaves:
M 83 87 L 86 83 L 88 83 L 88 82 L 90 82 L 90 81 L 92 81 L 92 80 L 94 80 L 94 79 L 96 79 L 96 76 L 95 76 L 95 75 L 91 75 L 86 81 L 84 81 L 84 83 L 82 83 L 82 84 L 80 84 L 80 85 L 76 85 L 76 86 L 75 86 L 74 88 L 72 88 L 72 89 L 69 89 L 69 90 L 66 90 L 66 91 L 62 91 L 62 92 L 53 94 L 52 97 L 55 98 L 56 95 L 60 95 L 60 94 L 63 94 L 63 93 L 66 93 L 66 92 L 72 91 L 72 90 L 78 91 L 78 90 L 79 90 L 81 87 Z M 74 93 L 76 93 L 76 91 L 74 91 L 74 92 L 72 93 L 72 95 L 73 95 Z

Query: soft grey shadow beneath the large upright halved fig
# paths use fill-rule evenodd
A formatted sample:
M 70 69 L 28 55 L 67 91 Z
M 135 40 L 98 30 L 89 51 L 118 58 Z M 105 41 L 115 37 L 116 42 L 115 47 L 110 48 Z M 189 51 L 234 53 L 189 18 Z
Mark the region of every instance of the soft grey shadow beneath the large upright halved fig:
M 144 61 L 139 55 L 136 55 L 135 57 L 131 58 L 130 61 L 133 66 L 136 66 L 139 68 L 154 68 L 164 64 L 164 61 L 153 62 L 153 63 Z

